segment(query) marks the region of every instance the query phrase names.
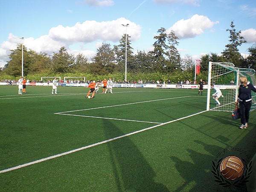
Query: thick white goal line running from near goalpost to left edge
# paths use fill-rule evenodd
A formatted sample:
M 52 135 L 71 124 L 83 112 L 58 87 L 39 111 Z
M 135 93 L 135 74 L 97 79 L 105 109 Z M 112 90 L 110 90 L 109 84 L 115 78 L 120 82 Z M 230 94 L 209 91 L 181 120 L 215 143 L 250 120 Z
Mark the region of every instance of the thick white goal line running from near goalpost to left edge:
M 44 161 L 47 161 L 47 160 L 51 160 L 51 159 L 54 159 L 54 158 L 57 158 L 57 157 L 61 157 L 61 156 L 67 155 L 67 154 L 75 153 L 77 151 L 81 151 L 81 150 L 84 150 L 84 149 L 87 149 L 87 148 L 91 148 L 91 147 L 94 147 L 94 146 L 97 146 L 97 145 L 101 145 L 101 144 L 108 143 L 108 142 L 111 142 L 111 141 L 114 141 L 114 140 L 118 140 L 118 139 L 121 139 L 123 137 L 128 137 L 130 135 L 134 135 L 134 134 L 137 134 L 137 133 L 140 133 L 140 132 L 143 132 L 143 131 L 147 131 L 147 130 L 150 130 L 150 129 L 153 129 L 153 128 L 157 128 L 157 127 L 160 127 L 162 125 L 166 125 L 166 124 L 169 124 L 169 123 L 172 123 L 172 122 L 176 122 L 176 121 L 180 121 L 182 119 L 186 119 L 186 118 L 189 118 L 189 117 L 192 117 L 192 116 L 195 116 L 195 115 L 199 115 L 199 114 L 204 113 L 204 112 L 206 112 L 206 111 L 201 111 L 199 113 L 195 113 L 195 114 L 192 114 L 192 115 L 189 115 L 189 116 L 184 116 L 184 117 L 181 117 L 179 119 L 175 119 L 175 120 L 172 120 L 172 121 L 169 121 L 169 122 L 165 122 L 165 123 L 162 123 L 162 124 L 159 124 L 159 125 L 154 125 L 152 127 L 141 129 L 139 131 L 134 131 L 134 132 L 129 133 L 129 134 L 124 134 L 124 135 L 121 135 L 119 137 L 114 137 L 114 138 L 109 139 L 109 140 L 101 141 L 101 142 L 94 143 L 92 145 L 87 145 L 87 146 L 84 146 L 84 147 L 81 147 L 81 148 L 76 148 L 76 149 L 73 149 L 71 151 L 67 151 L 67 152 L 64 152 L 64 153 L 52 155 L 52 156 L 49 156 L 49 157 L 46 157 L 46 158 L 43 158 L 43 159 L 40 159 L 40 160 L 35 160 L 35 161 L 29 162 L 29 163 L 25 163 L 25 164 L 22 164 L 22 165 L 19 165 L 19 166 L 15 166 L 15 167 L 12 167 L 12 168 L 9 168 L 9 169 L 4 169 L 4 170 L 1 170 L 0 173 L 5 173 L 5 172 L 13 171 L 13 170 L 20 169 L 20 168 L 23 168 L 23 167 L 26 167 L 26 166 L 30 166 L 30 165 L 33 165 L 33 164 L 36 164 L 36 163 L 41 163 L 41 162 L 44 162 Z

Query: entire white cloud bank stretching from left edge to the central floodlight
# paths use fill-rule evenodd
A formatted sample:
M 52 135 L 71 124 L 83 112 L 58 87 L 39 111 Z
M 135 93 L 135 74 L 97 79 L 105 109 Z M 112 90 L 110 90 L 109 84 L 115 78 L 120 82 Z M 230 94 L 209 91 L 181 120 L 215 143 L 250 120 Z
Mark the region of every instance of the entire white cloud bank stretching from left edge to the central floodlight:
M 59 25 L 50 29 L 48 35 L 43 35 L 36 39 L 29 37 L 21 40 L 19 37 L 10 33 L 8 40 L 4 41 L 0 47 L 0 67 L 4 67 L 6 61 L 9 60 L 8 55 L 11 53 L 10 49 L 16 49 L 17 44 L 22 42 L 27 49 L 32 49 L 36 52 L 46 52 L 49 55 L 52 55 L 53 52 L 58 52 L 64 46 L 68 52 L 74 55 L 77 55 L 79 52 L 83 53 L 90 60 L 102 42 L 118 42 L 126 31 L 126 27 L 122 26 L 122 24 L 127 23 L 129 23 L 127 34 L 131 36 L 131 41 L 136 41 L 140 38 L 140 25 L 132 23 L 123 17 L 104 22 L 88 20 L 83 23 L 76 23 L 71 27 Z M 99 41 L 102 42 L 99 43 Z M 80 45 L 79 49 L 81 50 L 69 49 L 69 46 L 77 43 Z M 91 48 L 84 48 L 86 46 Z

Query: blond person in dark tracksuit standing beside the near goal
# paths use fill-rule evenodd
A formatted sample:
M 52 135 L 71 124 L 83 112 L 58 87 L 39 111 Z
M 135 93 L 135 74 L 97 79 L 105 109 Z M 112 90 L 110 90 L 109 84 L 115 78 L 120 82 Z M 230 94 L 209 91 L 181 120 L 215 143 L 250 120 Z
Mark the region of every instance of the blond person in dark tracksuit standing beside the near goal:
M 239 102 L 239 114 L 241 116 L 241 126 L 239 128 L 246 129 L 249 121 L 249 112 L 252 106 L 251 91 L 256 93 L 256 88 L 253 84 L 247 81 L 246 77 L 240 78 L 240 87 L 237 102 Z

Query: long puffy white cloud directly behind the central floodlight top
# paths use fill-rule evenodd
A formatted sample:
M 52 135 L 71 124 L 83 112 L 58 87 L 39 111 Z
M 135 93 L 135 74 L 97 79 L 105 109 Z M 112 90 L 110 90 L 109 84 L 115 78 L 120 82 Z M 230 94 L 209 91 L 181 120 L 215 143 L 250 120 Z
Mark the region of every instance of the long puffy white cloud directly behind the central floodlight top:
M 132 41 L 140 38 L 141 27 L 123 17 L 103 22 L 87 20 L 83 23 L 76 23 L 72 27 L 59 25 L 50 29 L 49 36 L 57 41 L 89 43 L 101 39 L 103 41 L 116 42 L 125 33 L 125 28 L 122 26 L 123 23 L 129 23 L 127 33 L 131 36 Z

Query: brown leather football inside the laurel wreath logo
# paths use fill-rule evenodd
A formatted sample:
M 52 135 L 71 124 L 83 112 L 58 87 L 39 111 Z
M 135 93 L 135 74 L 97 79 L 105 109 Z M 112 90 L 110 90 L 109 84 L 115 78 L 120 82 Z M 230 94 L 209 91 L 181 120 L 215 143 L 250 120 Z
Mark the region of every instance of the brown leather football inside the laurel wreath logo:
M 236 180 L 243 174 L 244 164 L 238 157 L 228 156 L 222 160 L 220 171 L 227 180 Z

